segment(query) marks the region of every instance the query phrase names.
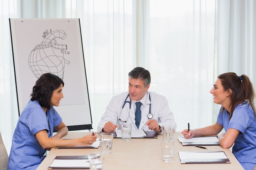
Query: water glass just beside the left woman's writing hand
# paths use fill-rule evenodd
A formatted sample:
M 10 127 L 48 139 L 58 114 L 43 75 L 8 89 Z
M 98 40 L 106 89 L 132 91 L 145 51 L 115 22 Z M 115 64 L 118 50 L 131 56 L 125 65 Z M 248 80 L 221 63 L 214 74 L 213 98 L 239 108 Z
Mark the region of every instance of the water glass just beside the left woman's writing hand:
M 112 152 L 113 133 L 101 133 L 101 149 L 103 154 Z

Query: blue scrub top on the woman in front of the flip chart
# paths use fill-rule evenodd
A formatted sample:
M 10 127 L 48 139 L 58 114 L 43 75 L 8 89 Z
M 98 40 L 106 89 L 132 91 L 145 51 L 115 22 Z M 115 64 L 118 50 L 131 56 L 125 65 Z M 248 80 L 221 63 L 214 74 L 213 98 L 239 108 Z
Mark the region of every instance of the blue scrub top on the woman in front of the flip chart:
M 29 100 L 13 134 L 7 170 L 35 170 L 43 161 L 46 149 L 40 146 L 35 134 L 40 130 L 47 130 L 50 137 L 49 127 L 52 134 L 54 127 L 62 121 L 53 107 L 47 113 L 48 118 L 37 101 Z

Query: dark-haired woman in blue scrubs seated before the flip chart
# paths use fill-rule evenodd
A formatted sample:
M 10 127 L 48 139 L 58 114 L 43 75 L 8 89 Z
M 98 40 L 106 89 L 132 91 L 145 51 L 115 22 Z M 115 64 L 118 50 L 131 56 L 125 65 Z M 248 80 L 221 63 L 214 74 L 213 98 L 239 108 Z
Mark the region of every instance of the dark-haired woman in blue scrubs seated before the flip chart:
M 78 139 L 60 139 L 68 129 L 53 106 L 59 106 L 63 86 L 63 80 L 51 73 L 41 75 L 36 81 L 13 134 L 7 170 L 36 170 L 47 149 L 87 146 L 96 141 L 97 136 L 92 134 Z M 52 136 L 54 128 L 58 132 Z

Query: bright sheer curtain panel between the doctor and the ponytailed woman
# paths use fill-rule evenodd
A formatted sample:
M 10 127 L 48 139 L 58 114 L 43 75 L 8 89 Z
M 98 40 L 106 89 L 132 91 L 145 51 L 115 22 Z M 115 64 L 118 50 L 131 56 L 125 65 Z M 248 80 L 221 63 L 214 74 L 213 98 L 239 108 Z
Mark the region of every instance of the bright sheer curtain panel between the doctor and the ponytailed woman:
M 150 0 L 148 11 L 150 90 L 168 99 L 177 131 L 212 124 L 215 0 Z

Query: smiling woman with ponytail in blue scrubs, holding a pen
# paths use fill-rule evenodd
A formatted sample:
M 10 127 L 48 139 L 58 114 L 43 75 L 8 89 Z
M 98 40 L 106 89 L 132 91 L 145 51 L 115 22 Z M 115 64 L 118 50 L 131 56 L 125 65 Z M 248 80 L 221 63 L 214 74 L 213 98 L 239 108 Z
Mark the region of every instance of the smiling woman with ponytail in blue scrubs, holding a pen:
M 210 93 L 213 102 L 221 104 L 217 121 L 204 128 L 183 130 L 185 138 L 218 135 L 222 148 L 232 148 L 233 154 L 245 170 L 256 165 L 256 109 L 254 88 L 246 75 L 224 73 L 218 76 Z M 256 168 L 256 167 L 255 167 Z

